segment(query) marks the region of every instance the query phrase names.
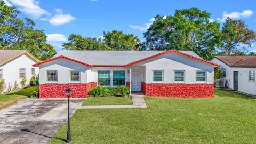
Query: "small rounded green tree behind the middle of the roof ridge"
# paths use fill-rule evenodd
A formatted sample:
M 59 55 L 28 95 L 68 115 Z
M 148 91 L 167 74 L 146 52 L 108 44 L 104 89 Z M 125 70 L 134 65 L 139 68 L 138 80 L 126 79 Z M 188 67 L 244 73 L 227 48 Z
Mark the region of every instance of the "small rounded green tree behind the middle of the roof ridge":
M 124 34 L 123 31 L 113 30 L 103 33 L 105 44 L 115 50 L 138 50 L 140 39 L 132 34 Z

